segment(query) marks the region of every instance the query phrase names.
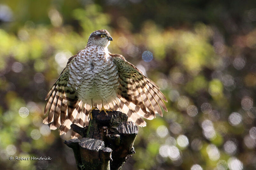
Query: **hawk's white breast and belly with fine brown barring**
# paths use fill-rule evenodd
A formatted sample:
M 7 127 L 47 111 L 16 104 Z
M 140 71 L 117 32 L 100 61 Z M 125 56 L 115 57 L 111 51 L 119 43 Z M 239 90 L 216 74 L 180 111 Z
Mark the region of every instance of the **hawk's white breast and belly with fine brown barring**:
M 69 84 L 84 102 L 112 101 L 119 86 L 118 71 L 108 48 L 90 46 L 82 50 L 69 66 Z

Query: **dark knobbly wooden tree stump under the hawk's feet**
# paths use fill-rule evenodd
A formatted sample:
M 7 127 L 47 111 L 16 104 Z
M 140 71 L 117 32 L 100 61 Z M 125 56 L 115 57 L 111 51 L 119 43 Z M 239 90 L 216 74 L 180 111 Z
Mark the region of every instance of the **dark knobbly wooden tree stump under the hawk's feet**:
M 127 122 L 128 117 L 122 112 L 107 113 L 92 110 L 89 126 L 71 125 L 82 139 L 64 143 L 73 149 L 78 170 L 120 170 L 135 153 L 133 143 L 138 127 Z

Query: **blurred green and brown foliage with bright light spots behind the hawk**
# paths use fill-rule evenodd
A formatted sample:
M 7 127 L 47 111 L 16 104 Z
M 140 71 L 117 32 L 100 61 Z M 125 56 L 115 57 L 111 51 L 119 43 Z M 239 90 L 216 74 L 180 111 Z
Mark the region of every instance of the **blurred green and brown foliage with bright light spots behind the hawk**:
M 253 0 L 0 1 L 1 169 L 76 169 L 69 136 L 42 123 L 44 98 L 102 28 L 168 100 L 125 170 L 256 169 L 255 24 Z

